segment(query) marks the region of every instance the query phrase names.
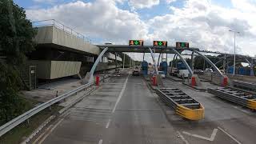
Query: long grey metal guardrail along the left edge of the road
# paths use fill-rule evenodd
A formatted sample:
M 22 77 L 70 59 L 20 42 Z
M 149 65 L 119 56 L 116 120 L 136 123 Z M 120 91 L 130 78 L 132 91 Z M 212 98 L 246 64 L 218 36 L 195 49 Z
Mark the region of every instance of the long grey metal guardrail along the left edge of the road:
M 100 78 L 100 80 L 103 80 L 104 78 L 108 78 L 108 77 L 109 77 L 109 75 L 107 75 L 106 77 L 103 76 L 103 78 Z M 19 115 L 17 118 L 14 118 L 10 122 L 7 122 L 6 124 L 4 124 L 4 125 L 2 125 L 0 127 L 0 137 L 3 134 L 6 134 L 9 130 L 12 130 L 15 126 L 18 126 L 22 122 L 25 122 L 26 120 L 28 120 L 34 114 L 38 114 L 40 111 L 46 109 L 47 107 L 50 107 L 50 106 L 54 105 L 54 103 L 60 102 L 63 99 L 68 98 L 71 95 L 76 94 L 79 91 L 84 90 L 84 89 L 86 89 L 89 86 L 93 86 L 94 82 L 90 82 L 90 83 L 87 83 L 86 85 L 79 86 L 78 88 L 76 88 L 74 90 L 70 90 L 66 94 L 62 94 L 62 95 L 60 95 L 60 96 L 58 96 L 56 98 L 53 98 L 53 99 L 51 99 L 51 100 L 49 100 L 47 102 L 44 102 L 41 105 L 36 106 L 33 109 L 31 109 L 31 110 L 28 110 L 26 113 Z

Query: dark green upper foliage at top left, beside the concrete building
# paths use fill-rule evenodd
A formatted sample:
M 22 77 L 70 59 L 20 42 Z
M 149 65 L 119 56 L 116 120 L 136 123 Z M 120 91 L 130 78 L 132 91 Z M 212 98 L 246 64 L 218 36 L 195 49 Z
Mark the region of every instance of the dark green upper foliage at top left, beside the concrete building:
M 7 57 L 8 63 L 22 64 L 25 54 L 34 50 L 33 38 L 36 30 L 26 19 L 23 8 L 12 0 L 0 2 L 0 50 Z

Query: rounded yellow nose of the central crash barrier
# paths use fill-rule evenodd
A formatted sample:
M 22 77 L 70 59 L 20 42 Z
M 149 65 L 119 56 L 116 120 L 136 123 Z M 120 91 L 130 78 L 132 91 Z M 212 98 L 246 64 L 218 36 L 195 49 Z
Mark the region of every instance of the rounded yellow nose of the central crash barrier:
M 200 120 L 205 116 L 205 108 L 201 104 L 199 109 L 194 110 L 182 105 L 178 105 L 176 114 L 190 120 Z

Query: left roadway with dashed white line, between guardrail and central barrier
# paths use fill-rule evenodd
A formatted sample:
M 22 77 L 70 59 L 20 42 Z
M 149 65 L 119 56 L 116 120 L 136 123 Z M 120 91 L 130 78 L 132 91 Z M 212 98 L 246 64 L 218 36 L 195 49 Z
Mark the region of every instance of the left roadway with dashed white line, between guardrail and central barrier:
M 34 143 L 183 143 L 142 77 L 126 71 L 78 102 Z

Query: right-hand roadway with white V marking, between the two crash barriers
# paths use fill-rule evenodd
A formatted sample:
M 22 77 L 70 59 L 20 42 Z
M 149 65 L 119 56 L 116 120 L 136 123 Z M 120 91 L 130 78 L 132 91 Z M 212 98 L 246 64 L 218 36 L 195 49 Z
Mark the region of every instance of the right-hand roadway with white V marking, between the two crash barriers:
M 213 94 L 193 90 L 189 86 L 182 85 L 182 82 L 173 82 L 169 79 L 164 79 L 163 82 L 166 87 L 175 87 L 189 94 L 205 107 L 205 118 L 198 122 L 184 121 L 174 114 L 173 110 L 167 112 L 170 123 L 175 130 L 180 131 L 187 142 L 198 144 L 256 143 L 254 136 L 256 134 L 256 115 L 254 112 L 234 103 L 223 101 Z M 210 86 L 209 83 L 208 86 Z M 212 85 L 212 87 L 216 86 Z M 214 129 L 217 132 L 212 140 L 210 136 L 214 134 Z M 191 136 L 191 134 L 196 134 L 196 136 Z

